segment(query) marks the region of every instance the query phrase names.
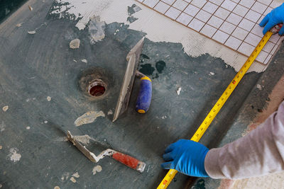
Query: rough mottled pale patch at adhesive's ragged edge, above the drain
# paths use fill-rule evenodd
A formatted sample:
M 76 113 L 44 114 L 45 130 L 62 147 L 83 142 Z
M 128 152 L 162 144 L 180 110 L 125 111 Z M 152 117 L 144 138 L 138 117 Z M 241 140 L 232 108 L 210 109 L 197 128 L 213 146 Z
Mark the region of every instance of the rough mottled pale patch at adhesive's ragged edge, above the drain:
M 100 21 L 101 18 L 99 16 L 94 16 L 89 18 L 89 39 L 91 44 L 95 42 L 101 41 L 104 39 L 104 29 L 106 28 L 106 23 Z

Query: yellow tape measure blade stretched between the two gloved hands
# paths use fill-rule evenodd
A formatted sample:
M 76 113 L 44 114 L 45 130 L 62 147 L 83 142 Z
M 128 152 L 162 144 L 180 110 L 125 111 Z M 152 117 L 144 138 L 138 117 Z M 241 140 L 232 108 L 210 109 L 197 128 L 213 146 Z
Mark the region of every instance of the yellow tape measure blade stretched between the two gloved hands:
M 258 54 L 261 52 L 264 45 L 266 45 L 266 42 L 268 42 L 269 38 L 271 38 L 271 35 L 273 35 L 273 33 L 271 31 L 268 31 L 266 35 L 263 36 L 263 38 L 261 39 L 261 42 L 258 43 L 258 45 L 256 46 L 256 49 L 253 50 L 249 59 L 246 60 L 243 67 L 241 67 L 240 71 L 236 74 L 236 76 L 231 81 L 229 86 L 226 88 L 226 90 L 224 91 L 222 96 L 219 98 L 217 103 L 215 103 L 214 107 L 210 110 L 209 114 L 206 116 L 206 118 L 204 119 L 204 121 L 202 122 L 198 130 L 195 132 L 195 134 L 192 136 L 191 140 L 195 142 L 200 141 L 204 132 L 207 130 L 211 122 L 214 120 L 217 113 L 219 113 L 219 111 L 221 110 L 226 100 L 228 100 L 229 96 L 234 91 L 236 86 L 239 84 L 244 74 L 246 74 L 246 71 L 249 70 L 249 67 L 251 67 L 251 64 L 253 64 L 253 61 L 256 59 Z M 163 178 L 163 181 L 160 183 L 160 185 L 158 185 L 158 189 L 168 188 L 168 185 L 170 184 L 171 181 L 173 181 L 173 178 L 175 177 L 176 173 L 178 173 L 178 171 L 176 171 L 175 169 L 170 169 L 170 171 L 168 171 L 165 178 Z

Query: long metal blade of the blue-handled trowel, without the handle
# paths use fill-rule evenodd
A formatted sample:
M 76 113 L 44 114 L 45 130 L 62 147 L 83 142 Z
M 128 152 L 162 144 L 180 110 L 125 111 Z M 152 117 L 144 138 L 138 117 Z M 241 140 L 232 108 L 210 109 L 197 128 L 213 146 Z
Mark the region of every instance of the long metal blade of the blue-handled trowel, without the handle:
M 135 79 L 135 73 L 138 67 L 139 58 L 142 52 L 144 38 L 142 38 L 137 44 L 130 50 L 129 54 L 126 56 L 126 60 L 129 62 L 124 75 L 124 82 L 122 83 L 121 90 L 119 93 L 119 100 L 116 103 L 116 110 L 114 113 L 114 122 L 119 115 L 125 112 L 127 106 L 129 105 L 129 98 L 131 95 L 131 90 L 133 86 L 133 81 Z

